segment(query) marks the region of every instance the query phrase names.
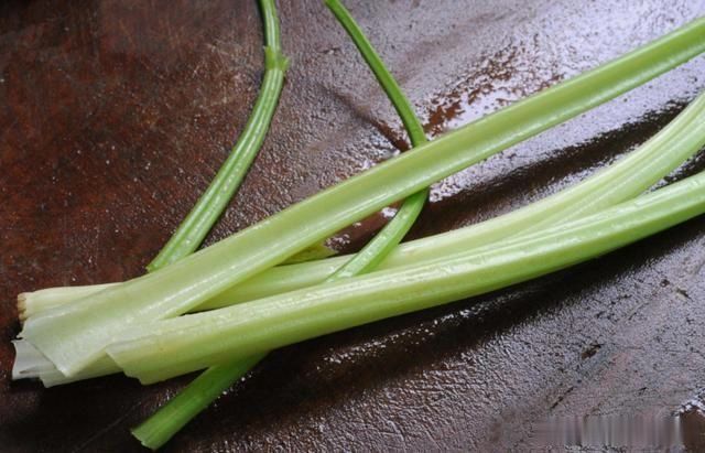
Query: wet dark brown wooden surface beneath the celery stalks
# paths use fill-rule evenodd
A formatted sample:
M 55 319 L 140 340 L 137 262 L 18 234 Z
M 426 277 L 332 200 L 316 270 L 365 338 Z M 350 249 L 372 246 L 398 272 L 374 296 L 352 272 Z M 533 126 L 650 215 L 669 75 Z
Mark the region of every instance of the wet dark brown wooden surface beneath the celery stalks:
M 347 1 L 431 136 L 705 13 L 703 0 Z M 292 65 L 271 133 L 212 244 L 405 147 L 318 1 L 282 1 Z M 0 450 L 140 450 L 128 428 L 187 379 L 10 382 L 14 296 L 143 271 L 243 126 L 256 2 L 0 6 Z M 692 63 L 437 184 L 430 235 L 554 193 L 633 149 L 705 87 Z M 705 155 L 673 177 L 705 168 Z M 334 245 L 352 250 L 383 222 Z M 166 451 L 477 450 L 550 416 L 670 414 L 705 398 L 705 218 L 482 298 L 271 355 Z M 696 416 L 693 416 L 696 417 Z

